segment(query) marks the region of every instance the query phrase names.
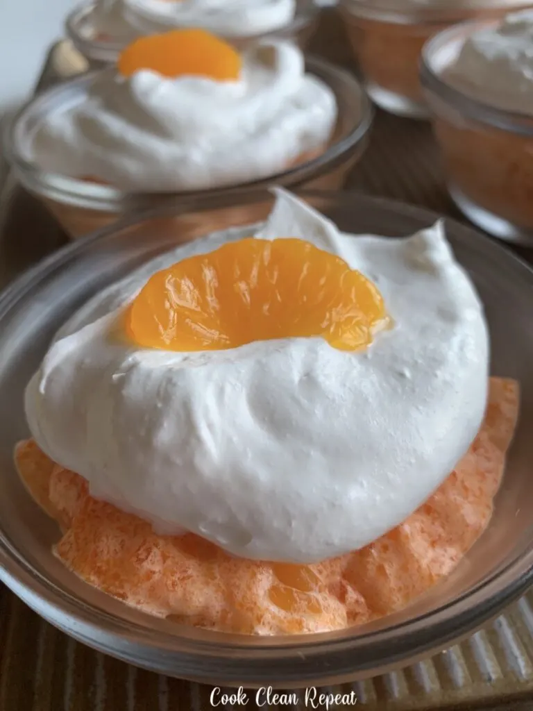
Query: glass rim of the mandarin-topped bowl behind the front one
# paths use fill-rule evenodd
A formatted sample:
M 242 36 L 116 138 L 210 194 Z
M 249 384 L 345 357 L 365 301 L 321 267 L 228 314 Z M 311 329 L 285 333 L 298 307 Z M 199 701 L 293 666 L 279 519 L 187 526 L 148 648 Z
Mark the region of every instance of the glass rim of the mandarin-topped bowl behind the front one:
M 104 68 L 92 70 L 75 77 L 74 79 L 61 82 L 60 84 L 39 93 L 31 98 L 6 122 L 3 134 L 3 148 L 6 160 L 16 172 L 21 183 L 28 190 L 38 195 L 57 201 L 67 203 L 82 208 L 98 210 L 109 213 L 119 213 L 131 211 L 132 204 L 143 205 L 149 208 L 153 205 L 178 198 L 183 201 L 191 197 L 203 198 L 208 201 L 213 197 L 227 196 L 231 198 L 237 194 L 256 191 L 276 183 L 298 185 L 323 173 L 333 169 L 343 161 L 345 155 L 355 146 L 362 144 L 367 136 L 374 120 L 374 108 L 362 85 L 357 78 L 351 75 L 348 70 L 340 68 L 333 63 L 318 58 L 313 55 L 305 55 L 306 71 L 318 75 L 330 89 L 335 93 L 338 104 L 338 121 L 343 119 L 343 106 L 345 97 L 357 96 L 360 106 L 360 114 L 353 121 L 348 134 L 333 142 L 323 151 L 320 156 L 304 161 L 292 166 L 289 170 L 274 173 L 264 178 L 256 178 L 252 181 L 237 183 L 235 185 L 221 188 L 208 188 L 201 191 L 183 191 L 181 193 L 128 193 L 112 186 L 82 181 L 77 178 L 63 176 L 59 173 L 50 173 L 41 169 L 35 161 L 26 159 L 18 149 L 18 130 L 21 124 L 27 122 L 33 114 L 45 107 L 47 102 L 58 99 L 64 92 L 70 90 L 83 91 L 102 72 L 115 71 L 114 68 Z M 340 83 L 340 87 L 335 85 Z M 344 114 L 348 115 L 346 112 Z M 350 117 L 350 121 L 351 121 Z M 131 204 L 130 204 L 131 203 Z

